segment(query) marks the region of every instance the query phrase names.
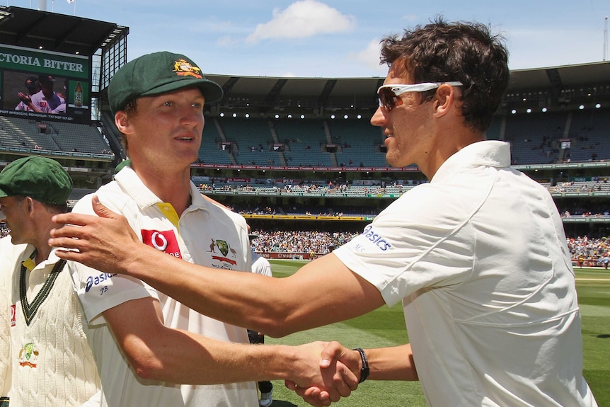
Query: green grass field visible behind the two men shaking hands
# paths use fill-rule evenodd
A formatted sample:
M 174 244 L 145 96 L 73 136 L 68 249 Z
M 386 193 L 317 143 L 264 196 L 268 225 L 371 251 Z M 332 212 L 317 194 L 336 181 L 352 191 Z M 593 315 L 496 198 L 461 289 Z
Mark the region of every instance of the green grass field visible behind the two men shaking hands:
M 306 261 L 270 260 L 275 277 L 296 272 Z M 610 406 L 610 270 L 576 269 L 578 300 L 582 313 L 584 373 L 599 406 Z M 298 345 L 313 340 L 338 340 L 349 348 L 373 348 L 405 343 L 407 332 L 401 304 L 356 319 L 294 333 L 284 338 L 265 338 L 265 343 Z M 273 407 L 309 406 L 284 382 L 273 382 Z M 419 382 L 364 382 L 347 399 L 333 406 L 424 407 Z

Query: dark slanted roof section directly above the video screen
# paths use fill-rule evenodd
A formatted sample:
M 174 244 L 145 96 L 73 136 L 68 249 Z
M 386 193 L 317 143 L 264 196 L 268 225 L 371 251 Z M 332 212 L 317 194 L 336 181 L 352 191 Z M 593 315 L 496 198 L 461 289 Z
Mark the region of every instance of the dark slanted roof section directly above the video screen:
M 128 28 L 67 14 L 0 6 L 0 42 L 91 57 Z

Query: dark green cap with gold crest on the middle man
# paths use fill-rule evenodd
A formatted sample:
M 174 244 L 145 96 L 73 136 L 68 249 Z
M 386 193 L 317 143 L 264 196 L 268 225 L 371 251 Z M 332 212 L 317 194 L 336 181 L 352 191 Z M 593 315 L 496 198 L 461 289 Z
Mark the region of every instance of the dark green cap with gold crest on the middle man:
M 108 100 L 113 114 L 141 96 L 197 86 L 207 103 L 222 98 L 222 88 L 205 79 L 195 62 L 184 55 L 161 51 L 137 57 L 123 65 L 108 86 Z

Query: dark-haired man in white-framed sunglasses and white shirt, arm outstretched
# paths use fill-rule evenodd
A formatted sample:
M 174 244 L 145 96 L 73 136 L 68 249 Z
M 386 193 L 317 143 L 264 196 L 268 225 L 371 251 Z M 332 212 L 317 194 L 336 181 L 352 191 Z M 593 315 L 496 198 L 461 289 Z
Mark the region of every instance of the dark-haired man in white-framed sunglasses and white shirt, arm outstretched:
M 419 379 L 429 406 L 596 406 L 558 211 L 546 188 L 510 167 L 507 142 L 485 139 L 509 81 L 501 38 L 437 18 L 381 45 L 389 73 L 371 122 L 389 164 L 416 164 L 430 183 L 333 253 L 282 279 L 212 272 L 143 246 L 101 205 L 103 217 L 57 217 L 81 227 L 55 230 L 53 244 L 270 336 L 401 302 L 409 344 L 329 343 L 321 367 L 341 360 L 361 382 Z M 313 397 L 318 389 L 297 392 L 329 403 Z

